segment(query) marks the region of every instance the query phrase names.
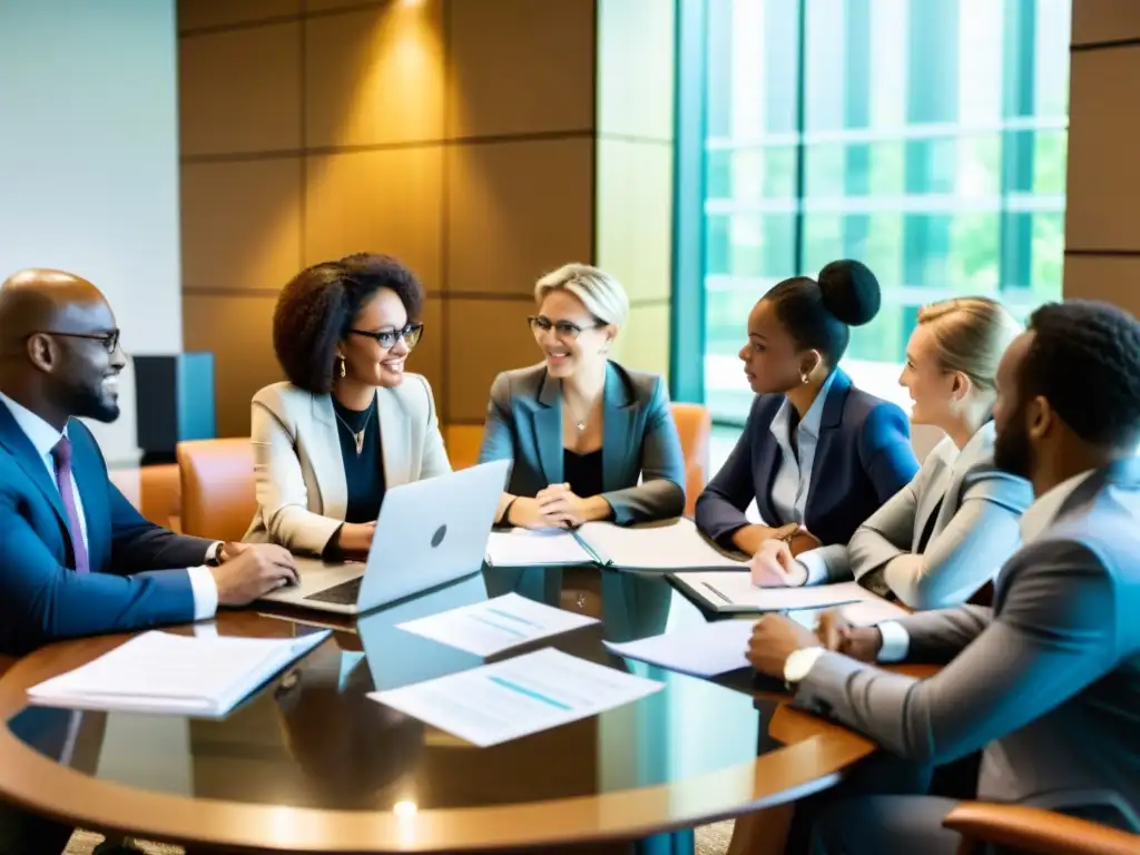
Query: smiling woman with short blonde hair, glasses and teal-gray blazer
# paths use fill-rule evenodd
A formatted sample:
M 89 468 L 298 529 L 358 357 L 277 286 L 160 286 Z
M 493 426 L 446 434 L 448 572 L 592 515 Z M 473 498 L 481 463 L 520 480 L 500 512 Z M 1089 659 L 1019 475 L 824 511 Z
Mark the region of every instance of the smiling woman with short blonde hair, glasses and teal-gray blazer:
M 511 459 L 498 522 L 570 528 L 677 516 L 684 456 L 665 381 L 609 358 L 629 317 L 613 276 L 571 263 L 535 285 L 543 361 L 491 385 L 479 462 Z

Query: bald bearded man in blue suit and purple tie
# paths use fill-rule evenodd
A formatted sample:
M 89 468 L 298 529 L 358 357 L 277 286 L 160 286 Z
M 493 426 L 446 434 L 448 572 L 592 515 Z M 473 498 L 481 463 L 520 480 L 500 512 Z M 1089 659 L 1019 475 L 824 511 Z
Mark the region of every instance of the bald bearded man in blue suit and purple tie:
M 78 417 L 119 416 L 125 364 L 91 283 L 25 270 L 0 286 L 0 653 L 212 618 L 296 580 L 285 549 L 176 535 L 108 481 Z M 2 855 L 58 853 L 70 834 L 0 811 Z

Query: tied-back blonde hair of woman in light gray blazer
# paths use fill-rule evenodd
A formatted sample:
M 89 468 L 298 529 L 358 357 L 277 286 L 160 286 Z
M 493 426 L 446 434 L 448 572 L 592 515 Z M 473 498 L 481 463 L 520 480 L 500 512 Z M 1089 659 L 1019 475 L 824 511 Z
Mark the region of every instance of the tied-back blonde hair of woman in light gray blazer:
M 919 325 L 928 325 L 943 370 L 961 372 L 974 385 L 995 390 L 994 376 L 1002 353 L 1021 325 L 996 300 L 961 296 L 919 309 Z

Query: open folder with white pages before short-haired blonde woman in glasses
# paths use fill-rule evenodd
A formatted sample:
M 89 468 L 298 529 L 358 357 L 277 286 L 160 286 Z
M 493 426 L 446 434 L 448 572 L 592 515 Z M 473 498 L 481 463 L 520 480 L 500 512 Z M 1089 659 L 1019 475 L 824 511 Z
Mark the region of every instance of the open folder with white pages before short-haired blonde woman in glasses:
M 727 555 L 678 519 L 641 527 L 587 522 L 573 531 L 492 532 L 487 546 L 492 567 L 597 564 L 618 570 L 747 570 L 748 561 Z

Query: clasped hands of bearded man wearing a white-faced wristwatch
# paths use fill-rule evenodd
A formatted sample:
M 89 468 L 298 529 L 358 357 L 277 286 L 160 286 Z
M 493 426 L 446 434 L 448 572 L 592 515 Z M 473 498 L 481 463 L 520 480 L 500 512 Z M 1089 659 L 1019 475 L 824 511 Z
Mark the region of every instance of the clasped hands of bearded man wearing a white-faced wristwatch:
M 854 626 L 838 610 L 821 614 L 814 633 L 783 614 L 765 614 L 752 627 L 747 656 L 757 671 L 782 679 L 788 657 L 816 646 L 873 662 L 882 648 L 882 634 L 876 627 Z

